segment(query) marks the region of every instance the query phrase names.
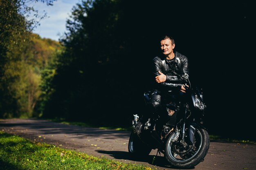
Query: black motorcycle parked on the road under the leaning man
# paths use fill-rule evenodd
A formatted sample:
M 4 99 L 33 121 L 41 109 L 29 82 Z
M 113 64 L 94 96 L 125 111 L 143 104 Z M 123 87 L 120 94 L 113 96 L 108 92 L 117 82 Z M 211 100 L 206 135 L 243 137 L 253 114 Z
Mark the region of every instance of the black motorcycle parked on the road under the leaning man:
M 172 167 L 182 169 L 193 168 L 204 160 L 210 145 L 209 134 L 202 125 L 206 105 L 202 89 L 191 87 L 189 79 L 186 82 L 185 100 L 181 102 L 170 97 L 163 101 L 162 110 L 148 118 L 140 132 L 135 126 L 144 115 L 133 115 L 128 144 L 132 157 L 143 157 L 157 149 Z M 144 93 L 145 104 L 151 93 Z

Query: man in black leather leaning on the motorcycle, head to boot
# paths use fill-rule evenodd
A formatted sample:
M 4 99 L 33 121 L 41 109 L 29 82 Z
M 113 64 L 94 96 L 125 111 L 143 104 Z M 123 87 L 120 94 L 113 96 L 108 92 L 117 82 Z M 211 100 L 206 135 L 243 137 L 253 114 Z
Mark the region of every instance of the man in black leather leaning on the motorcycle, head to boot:
M 147 129 L 150 124 L 148 118 L 161 108 L 161 97 L 167 93 L 182 99 L 182 93 L 186 93 L 186 79 L 189 77 L 189 63 L 185 55 L 174 51 L 175 42 L 171 36 L 161 38 L 162 56 L 153 59 L 153 91 L 150 102 L 146 106 L 146 114 L 135 127 L 139 134 L 143 124 Z

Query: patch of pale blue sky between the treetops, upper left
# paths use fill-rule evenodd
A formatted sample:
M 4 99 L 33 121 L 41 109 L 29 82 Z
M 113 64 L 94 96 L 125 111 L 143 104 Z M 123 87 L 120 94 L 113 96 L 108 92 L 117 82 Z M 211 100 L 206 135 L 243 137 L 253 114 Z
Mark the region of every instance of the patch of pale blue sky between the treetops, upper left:
M 40 25 L 34 29 L 33 33 L 39 34 L 41 38 L 58 41 L 66 31 L 66 20 L 71 14 L 72 7 L 80 2 L 81 0 L 56 0 L 53 6 L 47 6 L 42 2 L 31 3 L 29 6 L 38 10 L 39 14 L 47 13 L 47 18 L 40 21 Z

